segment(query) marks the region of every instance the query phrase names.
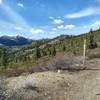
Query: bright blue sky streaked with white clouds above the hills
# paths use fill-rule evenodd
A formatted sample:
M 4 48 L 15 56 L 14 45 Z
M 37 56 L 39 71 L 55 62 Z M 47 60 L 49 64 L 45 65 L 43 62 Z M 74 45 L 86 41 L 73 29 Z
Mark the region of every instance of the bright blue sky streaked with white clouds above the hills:
M 100 27 L 100 0 L 0 0 L 0 36 L 53 38 Z

